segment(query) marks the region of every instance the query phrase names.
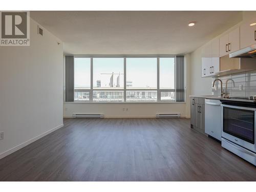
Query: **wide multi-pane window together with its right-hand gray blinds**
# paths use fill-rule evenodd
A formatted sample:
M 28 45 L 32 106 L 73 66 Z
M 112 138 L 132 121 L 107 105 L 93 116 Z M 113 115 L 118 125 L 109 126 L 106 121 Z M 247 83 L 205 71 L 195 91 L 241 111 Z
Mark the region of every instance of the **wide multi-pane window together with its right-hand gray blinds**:
M 184 72 L 176 70 L 178 65 L 178 69 L 184 71 L 184 56 L 176 58 L 178 57 L 152 55 L 74 56 L 74 101 L 184 101 Z M 176 89 L 181 90 L 179 94 Z

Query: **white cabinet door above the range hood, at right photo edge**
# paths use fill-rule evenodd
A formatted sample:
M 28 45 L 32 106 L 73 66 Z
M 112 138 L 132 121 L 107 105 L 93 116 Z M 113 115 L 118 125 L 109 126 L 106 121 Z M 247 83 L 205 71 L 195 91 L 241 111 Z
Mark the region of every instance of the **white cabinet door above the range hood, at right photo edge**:
M 256 44 L 256 25 L 250 26 L 252 23 L 256 23 L 256 18 L 250 19 L 240 26 L 241 49 Z

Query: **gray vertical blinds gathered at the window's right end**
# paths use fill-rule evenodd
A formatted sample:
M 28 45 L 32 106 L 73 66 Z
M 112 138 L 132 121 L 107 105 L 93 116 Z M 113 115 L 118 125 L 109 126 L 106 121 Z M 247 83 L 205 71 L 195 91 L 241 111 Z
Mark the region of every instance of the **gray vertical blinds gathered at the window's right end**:
M 176 101 L 185 101 L 184 56 L 176 56 Z

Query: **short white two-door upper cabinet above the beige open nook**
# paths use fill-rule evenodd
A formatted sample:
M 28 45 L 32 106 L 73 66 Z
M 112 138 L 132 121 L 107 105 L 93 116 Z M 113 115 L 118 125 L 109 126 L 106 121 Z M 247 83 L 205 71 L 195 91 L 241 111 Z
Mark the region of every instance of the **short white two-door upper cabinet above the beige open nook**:
M 239 28 L 220 37 L 220 57 L 240 49 Z

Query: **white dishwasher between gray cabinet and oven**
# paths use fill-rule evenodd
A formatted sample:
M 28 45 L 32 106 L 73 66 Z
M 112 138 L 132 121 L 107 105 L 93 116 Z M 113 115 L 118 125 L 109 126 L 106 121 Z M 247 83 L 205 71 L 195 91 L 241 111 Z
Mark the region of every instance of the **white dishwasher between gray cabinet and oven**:
M 221 141 L 221 101 L 205 99 L 205 133 Z

